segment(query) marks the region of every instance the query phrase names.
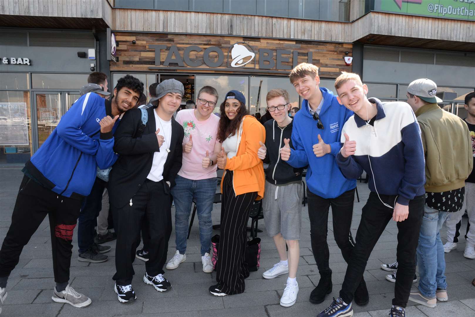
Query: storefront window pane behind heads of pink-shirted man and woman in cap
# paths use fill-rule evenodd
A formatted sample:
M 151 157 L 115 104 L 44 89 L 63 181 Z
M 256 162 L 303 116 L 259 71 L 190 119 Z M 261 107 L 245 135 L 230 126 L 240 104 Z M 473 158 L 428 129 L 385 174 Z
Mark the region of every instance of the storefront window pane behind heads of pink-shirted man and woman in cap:
M 247 76 L 207 76 L 197 75 L 195 78 L 195 91 L 199 92 L 204 86 L 212 86 L 218 90 L 218 104 L 213 112 L 219 112 L 219 105 L 224 101 L 224 96 L 229 90 L 238 90 L 246 97 L 247 107 L 249 109 L 248 77 Z M 198 97 L 198 96 L 197 96 Z M 264 97 L 265 98 L 265 97 Z

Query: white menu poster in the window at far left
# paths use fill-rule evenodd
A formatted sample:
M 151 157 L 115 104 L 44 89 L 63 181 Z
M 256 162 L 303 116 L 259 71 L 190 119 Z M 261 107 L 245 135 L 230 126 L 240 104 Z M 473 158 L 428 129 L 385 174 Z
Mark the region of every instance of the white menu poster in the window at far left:
M 0 145 L 28 145 L 27 104 L 0 103 Z

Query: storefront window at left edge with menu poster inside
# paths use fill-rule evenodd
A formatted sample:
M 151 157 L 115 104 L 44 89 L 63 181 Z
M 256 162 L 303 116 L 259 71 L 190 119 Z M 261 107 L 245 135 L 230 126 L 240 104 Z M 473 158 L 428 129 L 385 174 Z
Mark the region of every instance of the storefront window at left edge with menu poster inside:
M 29 92 L 0 91 L 0 163 L 25 163 L 31 151 Z

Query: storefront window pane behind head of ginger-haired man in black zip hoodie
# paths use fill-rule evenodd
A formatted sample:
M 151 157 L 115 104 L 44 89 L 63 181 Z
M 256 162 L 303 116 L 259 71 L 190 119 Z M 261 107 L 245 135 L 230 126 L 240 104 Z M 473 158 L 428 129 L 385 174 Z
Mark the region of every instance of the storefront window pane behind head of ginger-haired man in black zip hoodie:
M 259 94 L 260 87 L 260 94 Z M 275 88 L 282 88 L 289 93 L 290 103 L 292 107 L 299 107 L 299 96 L 295 91 L 294 86 L 290 83 L 288 78 L 276 77 L 251 77 L 251 96 L 248 102 L 249 113 L 251 115 L 260 112 L 261 115 L 266 113 L 266 95 L 269 90 Z

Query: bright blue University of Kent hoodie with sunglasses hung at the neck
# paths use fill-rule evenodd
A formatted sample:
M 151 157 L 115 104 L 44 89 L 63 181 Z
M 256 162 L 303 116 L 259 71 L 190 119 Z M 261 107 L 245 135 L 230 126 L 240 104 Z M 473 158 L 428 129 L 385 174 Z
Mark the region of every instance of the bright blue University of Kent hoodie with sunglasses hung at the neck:
M 323 95 L 323 105 L 319 116 L 324 128 L 317 128 L 317 122 L 308 110 L 308 101 L 304 99 L 302 108 L 294 117 L 292 143 L 295 150 L 290 150 L 287 163 L 295 168 L 308 165 L 305 177 L 308 189 L 327 199 L 338 197 L 356 187 L 356 180 L 346 179 L 335 159 L 342 147 L 342 127 L 353 112 L 340 105 L 330 90 L 320 88 L 320 91 Z M 313 149 L 314 144 L 318 143 L 318 134 L 323 142 L 331 147 L 331 153 L 322 157 L 316 157 Z

